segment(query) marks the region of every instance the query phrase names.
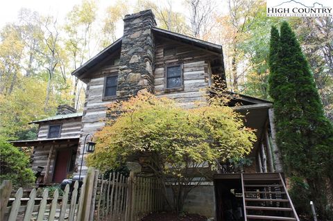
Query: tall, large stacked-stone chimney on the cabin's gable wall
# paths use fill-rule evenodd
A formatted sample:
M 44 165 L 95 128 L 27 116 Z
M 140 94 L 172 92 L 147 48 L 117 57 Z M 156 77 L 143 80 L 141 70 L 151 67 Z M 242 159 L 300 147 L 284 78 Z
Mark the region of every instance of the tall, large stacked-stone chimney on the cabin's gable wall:
M 156 26 L 151 10 L 144 10 L 123 19 L 123 38 L 119 61 L 117 96 L 127 98 L 146 89 L 153 92 L 154 39 Z

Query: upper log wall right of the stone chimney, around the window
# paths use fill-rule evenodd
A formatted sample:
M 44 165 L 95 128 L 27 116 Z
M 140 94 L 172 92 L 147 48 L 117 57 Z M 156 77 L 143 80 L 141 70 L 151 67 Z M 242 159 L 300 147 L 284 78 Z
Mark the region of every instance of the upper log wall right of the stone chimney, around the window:
M 164 48 L 176 48 L 176 55 L 164 56 Z M 205 88 L 211 78 L 210 59 L 215 55 L 202 51 L 194 46 L 180 44 L 165 39 L 156 44 L 155 48 L 155 94 L 167 96 L 185 108 L 195 107 L 205 103 Z M 165 82 L 165 67 L 183 65 L 184 90 L 167 92 Z

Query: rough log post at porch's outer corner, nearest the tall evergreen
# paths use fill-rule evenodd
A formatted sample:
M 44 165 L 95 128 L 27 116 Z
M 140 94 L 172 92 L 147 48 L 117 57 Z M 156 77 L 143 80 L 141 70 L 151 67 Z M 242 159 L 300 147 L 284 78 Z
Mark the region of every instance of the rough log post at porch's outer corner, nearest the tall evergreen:
M 269 116 L 269 125 L 271 126 L 271 134 L 272 134 L 272 148 L 274 154 L 274 164 L 276 172 L 282 172 L 282 157 L 281 152 L 276 145 L 276 130 L 275 130 L 275 121 L 274 121 L 274 110 L 273 108 L 268 109 L 268 116 Z

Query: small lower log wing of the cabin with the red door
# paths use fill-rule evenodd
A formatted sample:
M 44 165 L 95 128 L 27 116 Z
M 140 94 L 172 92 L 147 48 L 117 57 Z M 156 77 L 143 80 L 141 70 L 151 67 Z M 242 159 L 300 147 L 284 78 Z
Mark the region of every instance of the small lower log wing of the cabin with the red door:
M 60 183 L 74 173 L 81 119 L 82 113 L 60 105 L 56 116 L 31 122 L 38 125 L 37 139 L 11 142 L 17 147 L 33 147 L 31 167 L 42 169 L 38 183 Z

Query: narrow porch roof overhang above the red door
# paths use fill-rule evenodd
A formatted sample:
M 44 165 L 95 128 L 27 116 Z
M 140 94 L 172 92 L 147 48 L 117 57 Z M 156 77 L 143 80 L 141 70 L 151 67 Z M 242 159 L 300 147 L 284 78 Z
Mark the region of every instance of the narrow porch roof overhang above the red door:
M 77 144 L 79 136 L 73 137 L 61 137 L 53 139 L 35 139 L 27 141 L 8 141 L 15 147 L 32 147 L 32 146 L 42 146 L 42 145 L 63 145 L 63 144 Z

